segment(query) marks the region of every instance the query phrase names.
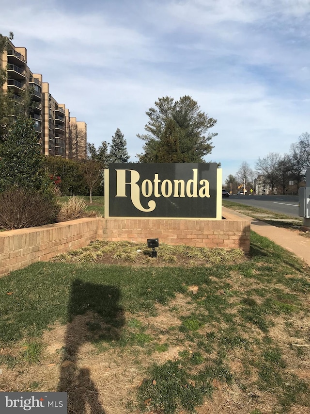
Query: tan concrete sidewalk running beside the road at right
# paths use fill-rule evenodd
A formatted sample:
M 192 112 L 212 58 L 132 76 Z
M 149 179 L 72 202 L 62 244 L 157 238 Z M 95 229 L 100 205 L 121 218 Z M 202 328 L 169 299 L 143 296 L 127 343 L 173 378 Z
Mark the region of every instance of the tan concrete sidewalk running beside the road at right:
M 226 207 L 222 207 L 223 211 L 226 211 L 226 209 Z M 293 232 L 292 230 L 271 226 L 270 224 L 257 220 L 256 218 L 249 217 L 248 215 L 236 212 L 234 210 L 228 210 L 233 212 L 234 215 L 238 215 L 244 219 L 249 220 L 251 222 L 251 230 L 253 230 L 253 232 L 267 237 L 277 245 L 286 248 L 296 256 L 300 257 L 308 266 L 310 266 L 310 238 L 303 237 L 297 232 Z

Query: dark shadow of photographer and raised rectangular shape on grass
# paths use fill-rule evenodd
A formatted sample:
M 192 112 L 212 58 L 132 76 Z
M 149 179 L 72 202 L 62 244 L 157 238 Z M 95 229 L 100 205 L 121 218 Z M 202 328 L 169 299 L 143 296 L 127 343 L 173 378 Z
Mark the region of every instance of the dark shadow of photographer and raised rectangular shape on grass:
M 79 350 L 100 337 L 118 340 L 124 325 L 124 310 L 119 305 L 120 290 L 115 286 L 82 282 L 72 283 L 68 306 L 65 348 L 58 391 L 68 393 L 68 414 L 105 414 L 99 391 L 88 367 L 78 367 Z

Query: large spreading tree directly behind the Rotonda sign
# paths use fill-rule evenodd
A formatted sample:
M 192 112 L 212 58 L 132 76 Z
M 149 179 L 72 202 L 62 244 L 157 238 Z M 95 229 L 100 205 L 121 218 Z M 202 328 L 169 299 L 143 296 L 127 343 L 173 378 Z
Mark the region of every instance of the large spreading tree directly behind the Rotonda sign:
M 206 132 L 216 125 L 217 120 L 202 112 L 197 101 L 190 96 L 185 95 L 176 101 L 168 96 L 159 98 L 155 102 L 155 108 L 149 108 L 146 115 L 149 117 L 145 125 L 147 133 L 137 135 L 145 142 L 144 153 L 138 155 L 140 162 L 156 162 L 161 140 L 167 140 L 164 132 L 171 119 L 176 127 L 173 139 L 175 142 L 178 141 L 179 152 L 182 155 L 182 157 L 178 156 L 179 162 L 203 162 L 203 157 L 211 153 L 213 148 L 211 140 L 217 133 L 206 135 Z

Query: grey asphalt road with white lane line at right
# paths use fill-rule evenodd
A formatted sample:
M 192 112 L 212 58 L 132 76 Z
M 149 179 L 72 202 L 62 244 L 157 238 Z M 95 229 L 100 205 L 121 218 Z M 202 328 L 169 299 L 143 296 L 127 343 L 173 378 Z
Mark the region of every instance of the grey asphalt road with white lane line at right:
M 230 196 L 228 201 L 245 204 L 246 206 L 263 208 L 275 213 L 282 213 L 291 217 L 298 215 L 298 196 Z

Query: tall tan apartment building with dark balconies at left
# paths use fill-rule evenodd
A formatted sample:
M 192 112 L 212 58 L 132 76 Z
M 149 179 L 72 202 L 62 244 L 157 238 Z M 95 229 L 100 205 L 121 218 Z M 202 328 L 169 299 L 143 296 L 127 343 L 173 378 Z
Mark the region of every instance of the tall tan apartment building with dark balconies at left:
M 26 91 L 30 92 L 30 115 L 42 154 L 86 158 L 86 123 L 71 117 L 65 104 L 58 103 L 50 94 L 49 84 L 43 82 L 42 75 L 31 72 L 27 65 L 27 49 L 15 47 L 9 39 L 7 42 L 7 49 L 0 56 L 0 67 L 7 68 L 8 74 L 3 90 L 16 102 L 23 99 Z

